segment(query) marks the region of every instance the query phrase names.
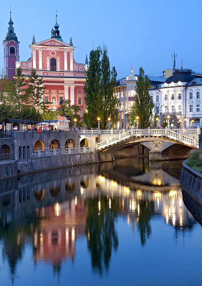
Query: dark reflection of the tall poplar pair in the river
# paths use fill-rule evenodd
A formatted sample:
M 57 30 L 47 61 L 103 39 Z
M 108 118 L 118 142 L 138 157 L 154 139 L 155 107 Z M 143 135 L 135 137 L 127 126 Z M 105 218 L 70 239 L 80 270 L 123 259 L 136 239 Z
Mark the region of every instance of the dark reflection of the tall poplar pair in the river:
M 87 199 L 86 235 L 88 249 L 91 253 L 93 270 L 103 273 L 109 269 L 112 250 L 117 251 L 118 236 L 115 230 L 115 219 L 119 198 Z

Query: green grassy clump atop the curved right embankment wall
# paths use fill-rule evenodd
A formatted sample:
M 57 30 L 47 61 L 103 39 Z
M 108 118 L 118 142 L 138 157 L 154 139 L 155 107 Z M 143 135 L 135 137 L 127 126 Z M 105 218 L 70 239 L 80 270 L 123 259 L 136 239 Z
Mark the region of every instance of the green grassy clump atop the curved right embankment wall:
M 188 152 L 187 166 L 202 174 L 202 150 L 192 149 Z

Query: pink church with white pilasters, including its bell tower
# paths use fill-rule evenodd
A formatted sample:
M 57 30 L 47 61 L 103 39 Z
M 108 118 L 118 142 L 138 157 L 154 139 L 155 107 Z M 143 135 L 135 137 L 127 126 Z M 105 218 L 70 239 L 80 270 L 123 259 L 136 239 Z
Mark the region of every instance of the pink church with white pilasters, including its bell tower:
M 9 32 L 13 32 L 11 31 L 12 25 L 13 22 L 10 19 Z M 85 111 L 83 88 L 86 81 L 85 71 L 88 68 L 87 57 L 85 65 L 75 61 L 75 47 L 71 39 L 69 44 L 63 42 L 58 30 L 57 16 L 54 28 L 51 30 L 50 39 L 36 43 L 33 36 L 30 45 L 31 57 L 28 61 L 19 61 L 19 42 L 13 39 L 14 35 L 9 34 L 6 39 L 10 40 L 11 37 L 11 40 L 3 42 L 5 53 L 7 53 L 7 57 L 4 57 L 5 74 L 13 77 L 17 67 L 21 67 L 23 75 L 27 78 L 31 75 L 31 70 L 35 68 L 38 76 L 43 78 L 43 99 L 51 102 L 49 109 L 57 110 L 65 100 L 69 99 L 71 105 L 77 104 L 80 107 L 78 114 L 82 118 Z M 15 38 L 17 39 L 16 36 Z M 10 49 L 11 45 L 13 49 Z M 14 52 L 14 49 L 15 54 L 10 53 L 10 51 Z M 14 65 L 14 69 L 10 70 L 11 65 Z

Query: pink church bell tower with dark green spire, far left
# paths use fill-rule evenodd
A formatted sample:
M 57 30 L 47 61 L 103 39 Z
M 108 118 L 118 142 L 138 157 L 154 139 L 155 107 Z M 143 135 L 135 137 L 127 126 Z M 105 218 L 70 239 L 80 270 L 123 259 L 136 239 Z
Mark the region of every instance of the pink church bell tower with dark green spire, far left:
M 6 34 L 5 40 L 3 41 L 4 46 L 4 74 L 7 78 L 13 78 L 15 76 L 15 62 L 16 59 L 19 61 L 19 41 L 14 33 L 13 21 L 8 22 L 8 33 Z

